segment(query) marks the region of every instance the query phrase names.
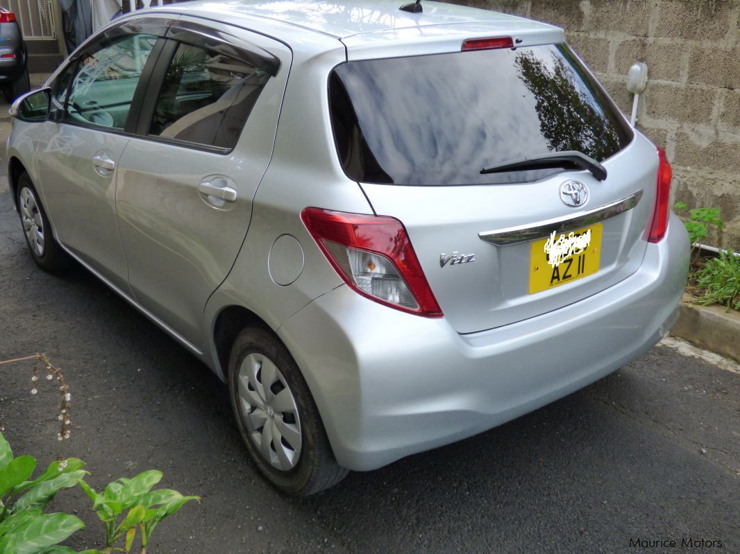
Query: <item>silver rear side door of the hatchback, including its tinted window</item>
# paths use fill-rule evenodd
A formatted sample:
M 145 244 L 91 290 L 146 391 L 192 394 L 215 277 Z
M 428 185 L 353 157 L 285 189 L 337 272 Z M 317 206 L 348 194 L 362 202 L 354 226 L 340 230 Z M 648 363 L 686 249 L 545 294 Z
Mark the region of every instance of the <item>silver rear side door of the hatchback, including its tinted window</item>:
M 167 38 L 118 165 L 118 222 L 136 301 L 200 349 L 272 155 L 291 53 L 195 18 Z

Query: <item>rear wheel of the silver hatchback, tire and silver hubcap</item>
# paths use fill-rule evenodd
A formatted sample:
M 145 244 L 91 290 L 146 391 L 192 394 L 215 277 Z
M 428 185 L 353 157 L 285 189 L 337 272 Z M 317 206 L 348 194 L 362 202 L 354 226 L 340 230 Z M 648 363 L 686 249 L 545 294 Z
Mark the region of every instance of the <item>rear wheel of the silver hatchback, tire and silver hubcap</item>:
M 229 393 L 249 455 L 277 488 L 308 496 L 346 476 L 303 375 L 271 332 L 240 332 L 229 359 Z

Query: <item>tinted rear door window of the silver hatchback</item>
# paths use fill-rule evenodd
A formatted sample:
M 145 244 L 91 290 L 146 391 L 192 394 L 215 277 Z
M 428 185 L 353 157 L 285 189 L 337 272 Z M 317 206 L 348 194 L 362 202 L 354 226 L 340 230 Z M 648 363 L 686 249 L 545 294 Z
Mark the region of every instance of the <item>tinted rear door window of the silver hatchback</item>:
M 162 83 L 150 135 L 234 148 L 269 74 L 226 55 L 180 44 Z

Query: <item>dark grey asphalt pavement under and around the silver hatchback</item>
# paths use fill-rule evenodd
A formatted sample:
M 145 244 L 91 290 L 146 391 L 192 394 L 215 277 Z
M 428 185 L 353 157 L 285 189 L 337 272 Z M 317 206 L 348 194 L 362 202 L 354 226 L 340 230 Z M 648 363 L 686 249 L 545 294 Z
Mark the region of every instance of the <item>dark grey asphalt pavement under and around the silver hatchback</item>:
M 202 496 L 151 553 L 740 552 L 740 374 L 667 346 L 500 428 L 288 499 L 246 459 L 215 376 L 81 268 L 36 268 L 3 178 L 0 360 L 35 352 L 65 370 L 72 437 L 55 439 L 55 392 L 29 394 L 30 363 L 0 366 L 16 454 L 81 457 L 97 488 L 158 468 Z M 84 495 L 53 506 L 88 523 L 74 547 L 101 544 Z

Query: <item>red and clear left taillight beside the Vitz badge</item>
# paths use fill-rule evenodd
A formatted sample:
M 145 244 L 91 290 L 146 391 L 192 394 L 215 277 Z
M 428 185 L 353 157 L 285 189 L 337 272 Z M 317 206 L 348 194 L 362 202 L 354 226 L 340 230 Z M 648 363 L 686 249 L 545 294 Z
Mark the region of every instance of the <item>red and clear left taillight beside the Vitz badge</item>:
M 387 216 L 306 208 L 303 224 L 346 284 L 371 300 L 441 317 L 403 223 Z

